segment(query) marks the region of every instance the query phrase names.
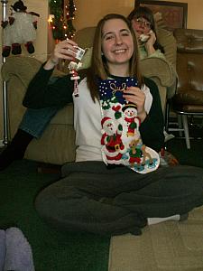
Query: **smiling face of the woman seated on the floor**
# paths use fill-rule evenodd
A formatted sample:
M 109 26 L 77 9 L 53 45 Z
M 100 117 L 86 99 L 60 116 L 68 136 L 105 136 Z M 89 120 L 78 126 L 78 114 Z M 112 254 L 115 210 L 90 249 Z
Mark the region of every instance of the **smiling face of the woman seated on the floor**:
M 117 65 L 129 67 L 134 52 L 134 42 L 125 21 L 121 19 L 106 21 L 102 31 L 102 51 L 109 70 Z

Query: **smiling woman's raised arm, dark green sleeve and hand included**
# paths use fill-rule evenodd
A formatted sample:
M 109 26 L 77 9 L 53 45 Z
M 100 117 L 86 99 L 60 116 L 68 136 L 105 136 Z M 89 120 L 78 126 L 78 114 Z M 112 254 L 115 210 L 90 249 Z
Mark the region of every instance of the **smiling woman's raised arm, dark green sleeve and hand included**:
M 60 59 L 76 61 L 77 43 L 65 40 L 56 44 L 51 57 L 30 82 L 23 98 L 23 106 L 42 108 L 65 106 L 72 101 L 73 80 L 70 76 L 51 78 L 54 67 Z

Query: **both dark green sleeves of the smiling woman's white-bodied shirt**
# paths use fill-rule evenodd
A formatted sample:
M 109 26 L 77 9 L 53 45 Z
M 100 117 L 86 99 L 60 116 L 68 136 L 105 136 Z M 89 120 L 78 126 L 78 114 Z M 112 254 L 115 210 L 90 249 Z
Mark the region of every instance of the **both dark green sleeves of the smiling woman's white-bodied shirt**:
M 70 80 L 69 75 L 51 78 L 52 71 L 41 67 L 28 86 L 23 98 L 24 107 L 64 107 L 73 102 L 73 80 Z M 161 99 L 159 90 L 151 79 L 144 78 L 144 83 L 151 90 L 153 101 L 148 116 L 140 126 L 140 133 L 143 144 L 159 152 L 164 145 Z

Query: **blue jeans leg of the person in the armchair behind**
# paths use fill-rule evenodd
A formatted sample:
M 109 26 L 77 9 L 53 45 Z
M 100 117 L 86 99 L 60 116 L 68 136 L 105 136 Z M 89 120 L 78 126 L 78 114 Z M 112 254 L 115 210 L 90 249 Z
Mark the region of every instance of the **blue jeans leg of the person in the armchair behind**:
M 51 122 L 51 118 L 56 115 L 60 108 L 62 107 L 27 108 L 19 129 L 33 135 L 35 138 L 40 138 L 45 128 Z

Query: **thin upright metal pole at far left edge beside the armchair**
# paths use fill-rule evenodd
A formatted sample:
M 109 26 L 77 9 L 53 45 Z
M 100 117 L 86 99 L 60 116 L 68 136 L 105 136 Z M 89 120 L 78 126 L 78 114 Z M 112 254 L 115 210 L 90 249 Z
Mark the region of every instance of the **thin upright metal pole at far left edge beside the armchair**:
M 2 2 L 2 18 L 5 22 L 6 19 L 6 5 L 8 3 L 8 0 L 1 0 Z M 4 30 L 3 30 L 4 35 Z M 5 63 L 5 57 L 3 57 L 3 63 Z M 3 144 L 8 144 L 8 107 L 7 107 L 7 85 L 6 82 L 3 81 L 3 111 L 4 111 L 4 138 L 3 138 Z

